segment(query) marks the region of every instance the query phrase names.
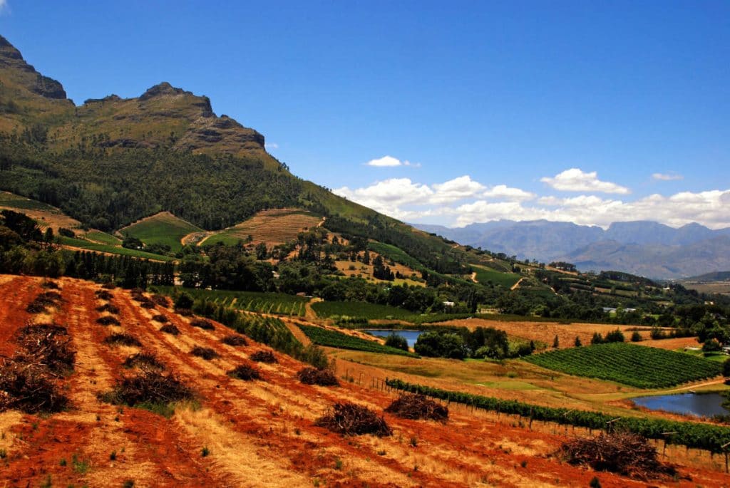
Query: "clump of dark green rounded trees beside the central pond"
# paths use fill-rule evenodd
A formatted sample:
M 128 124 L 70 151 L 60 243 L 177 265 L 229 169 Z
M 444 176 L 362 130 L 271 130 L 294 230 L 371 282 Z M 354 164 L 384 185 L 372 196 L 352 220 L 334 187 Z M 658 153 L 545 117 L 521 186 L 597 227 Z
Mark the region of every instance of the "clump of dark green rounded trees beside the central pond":
M 447 357 L 464 359 L 504 359 L 532 354 L 534 343 L 518 344 L 510 347 L 510 340 L 504 330 L 491 327 L 477 327 L 469 331 L 466 328 L 445 328 L 430 330 L 418 336 L 413 348 L 416 354 L 427 357 Z

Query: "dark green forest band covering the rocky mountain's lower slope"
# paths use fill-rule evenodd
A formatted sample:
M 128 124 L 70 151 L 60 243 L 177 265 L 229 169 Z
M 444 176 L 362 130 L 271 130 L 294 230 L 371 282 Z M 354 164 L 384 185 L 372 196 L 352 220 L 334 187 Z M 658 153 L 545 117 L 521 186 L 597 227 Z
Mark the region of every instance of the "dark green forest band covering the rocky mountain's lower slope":
M 301 181 L 264 167 L 266 155 L 193 155 L 169 148 L 50 152 L 0 134 L 0 189 L 58 206 L 112 231 L 162 209 L 201 228 L 234 225 L 266 208 L 295 206 Z M 160 189 L 164 188 L 164 191 Z

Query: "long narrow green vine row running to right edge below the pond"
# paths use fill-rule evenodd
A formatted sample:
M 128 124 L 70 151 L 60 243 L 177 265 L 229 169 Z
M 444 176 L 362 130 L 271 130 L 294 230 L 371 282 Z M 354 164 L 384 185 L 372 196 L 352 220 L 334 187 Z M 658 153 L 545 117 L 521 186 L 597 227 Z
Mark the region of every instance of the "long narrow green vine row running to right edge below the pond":
M 594 411 L 531 405 L 516 400 L 502 400 L 469 393 L 440 390 L 439 388 L 402 382 L 399 379 L 387 379 L 385 384 L 395 390 L 420 393 L 421 395 L 447 400 L 448 402 L 462 403 L 482 410 L 496 411 L 507 415 L 519 415 L 540 422 L 556 422 L 560 425 L 574 425 L 575 427 L 595 430 L 626 430 L 643 435 L 646 438 L 664 440 L 667 444 L 705 449 L 715 453 L 725 452 L 726 444 L 730 444 L 730 428 L 719 425 L 677 422 L 665 419 L 615 417 L 614 415 Z

